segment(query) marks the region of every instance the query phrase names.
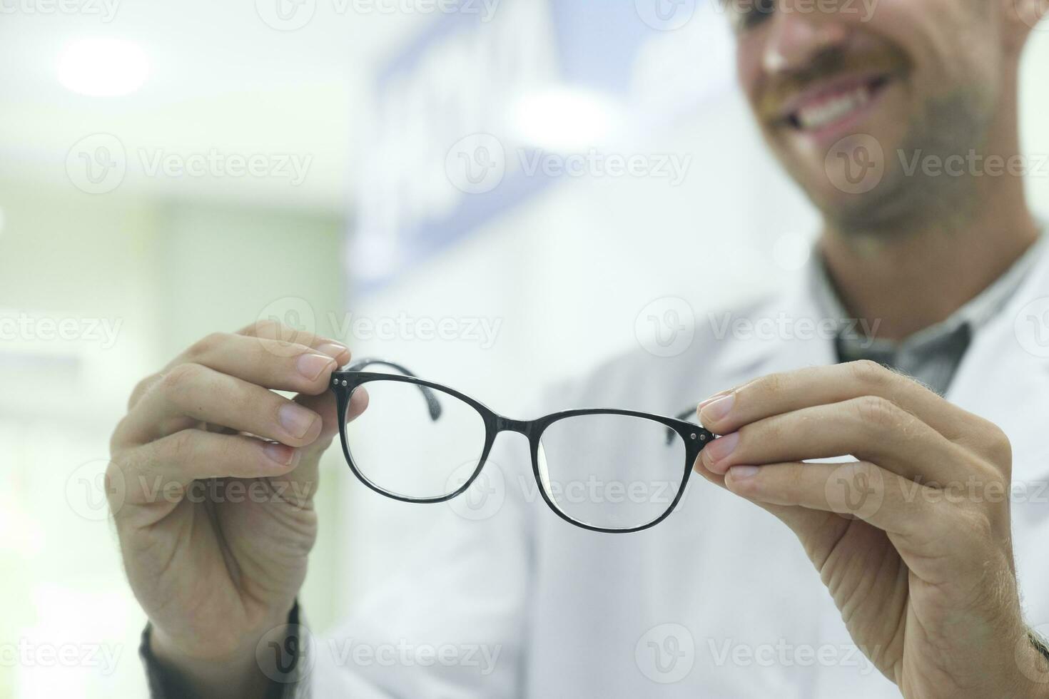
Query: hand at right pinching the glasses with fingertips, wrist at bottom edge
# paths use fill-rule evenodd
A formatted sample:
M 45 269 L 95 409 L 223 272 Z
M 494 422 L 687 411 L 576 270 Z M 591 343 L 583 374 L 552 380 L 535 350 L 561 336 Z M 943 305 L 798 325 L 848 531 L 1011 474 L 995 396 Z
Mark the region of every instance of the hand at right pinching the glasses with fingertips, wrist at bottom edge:
M 1001 429 L 871 362 L 755 379 L 700 420 L 724 436 L 695 469 L 797 534 L 904 697 L 1049 697 L 1020 610 Z M 804 462 L 842 455 L 855 460 Z

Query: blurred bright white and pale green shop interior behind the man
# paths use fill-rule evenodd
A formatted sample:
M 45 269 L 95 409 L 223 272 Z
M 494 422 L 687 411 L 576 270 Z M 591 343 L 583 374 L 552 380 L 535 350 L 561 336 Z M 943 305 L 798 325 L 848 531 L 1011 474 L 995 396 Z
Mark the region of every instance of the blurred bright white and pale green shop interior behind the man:
M 145 696 L 101 473 L 193 341 L 276 318 L 531 417 L 777 288 L 814 232 L 706 0 L 0 1 L 0 697 Z M 335 452 L 323 481 L 320 633 L 433 517 Z

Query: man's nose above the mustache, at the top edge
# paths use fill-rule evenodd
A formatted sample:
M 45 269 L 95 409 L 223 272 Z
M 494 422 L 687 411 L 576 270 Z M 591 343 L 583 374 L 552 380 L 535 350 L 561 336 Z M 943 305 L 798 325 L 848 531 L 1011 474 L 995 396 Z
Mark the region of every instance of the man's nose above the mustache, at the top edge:
M 801 0 L 777 0 L 770 36 L 765 44 L 762 67 L 768 74 L 793 72 L 849 37 L 848 27 L 836 13 L 819 9 Z

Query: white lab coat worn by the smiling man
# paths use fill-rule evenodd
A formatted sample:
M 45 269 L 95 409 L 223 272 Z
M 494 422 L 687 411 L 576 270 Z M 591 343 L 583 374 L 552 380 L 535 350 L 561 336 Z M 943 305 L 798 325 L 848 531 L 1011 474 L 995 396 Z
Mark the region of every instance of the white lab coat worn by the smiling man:
M 1049 622 L 1049 359 L 1035 355 L 1031 337 L 1018 337 L 1030 319 L 1015 320 L 1042 297 L 1049 255 L 978 332 L 947 394 L 1012 441 L 1013 545 L 1032 626 Z M 745 315 L 780 312 L 821 315 L 804 283 Z M 755 376 L 834 362 L 823 338 L 718 341 L 705 320 L 684 354 L 639 350 L 543 408 L 669 414 Z M 535 496 L 523 439 L 499 442 L 492 463 L 500 468 L 487 484 L 495 500 L 479 510 L 491 516 L 472 521 L 447 509 L 442 527 L 406 544 L 404 573 L 362 600 L 337 634 L 316 639 L 307 665 L 315 697 L 899 696 L 856 651 L 794 534 L 761 508 L 693 475 L 656 527 L 586 531 Z

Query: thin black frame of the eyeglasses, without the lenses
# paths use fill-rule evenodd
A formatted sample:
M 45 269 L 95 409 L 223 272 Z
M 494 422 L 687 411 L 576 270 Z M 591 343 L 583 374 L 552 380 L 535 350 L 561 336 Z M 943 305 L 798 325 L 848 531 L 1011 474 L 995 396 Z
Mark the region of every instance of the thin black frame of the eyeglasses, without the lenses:
M 369 372 L 362 371 L 366 366 L 371 365 L 383 365 L 400 371 L 400 374 L 390 374 L 383 372 Z M 410 496 L 401 495 L 399 493 L 392 493 L 383 488 L 382 486 L 373 483 L 371 480 L 365 476 L 357 464 L 354 462 L 354 457 L 349 453 L 349 444 L 346 438 L 346 411 L 349 409 L 349 399 L 354 394 L 354 391 L 368 384 L 370 381 L 384 380 L 384 381 L 402 381 L 405 384 L 413 384 L 420 388 L 424 397 L 426 398 L 427 405 L 429 406 L 430 417 L 436 420 L 441 415 L 440 401 L 433 395 L 433 390 L 447 393 L 448 395 L 462 400 L 471 408 L 473 408 L 480 415 L 485 423 L 485 446 L 481 450 L 480 458 L 477 461 L 477 466 L 474 468 L 473 474 L 467 479 L 463 485 L 456 489 L 454 493 L 444 495 L 436 498 L 413 498 Z M 675 510 L 678 503 L 681 501 L 682 496 L 685 493 L 685 486 L 688 485 L 688 477 L 692 472 L 692 465 L 695 463 L 695 459 L 699 458 L 700 452 L 708 443 L 713 441 L 714 434 L 704 428 L 694 424 L 692 422 L 687 422 L 682 419 L 677 419 L 673 417 L 665 417 L 663 415 L 655 415 L 652 413 L 643 413 L 633 410 L 620 410 L 616 408 L 591 408 L 591 409 L 579 409 L 579 410 L 565 410 L 557 413 L 551 413 L 549 415 L 543 415 L 534 420 L 514 420 L 502 415 L 499 415 L 488 406 L 485 406 L 478 400 L 471 398 L 470 396 L 456 391 L 455 389 L 436 384 L 434 381 L 428 381 L 423 378 L 419 378 L 410 371 L 405 369 L 399 364 L 392 362 L 387 362 L 385 359 L 360 359 L 346 369 L 342 371 L 336 371 L 331 373 L 331 390 L 336 395 L 337 414 L 339 415 L 339 438 L 342 442 L 342 453 L 346 457 L 346 463 L 349 465 L 350 471 L 354 475 L 376 493 L 391 498 L 393 500 L 399 500 L 401 502 L 411 502 L 420 504 L 430 504 L 438 502 L 447 502 L 452 498 L 456 498 L 463 493 L 465 493 L 480 476 L 481 469 L 485 467 L 485 463 L 488 460 L 488 455 L 492 450 L 492 445 L 495 443 L 495 438 L 502 432 L 516 432 L 518 434 L 524 435 L 529 440 L 529 451 L 532 457 L 532 474 L 535 476 L 536 485 L 538 486 L 539 494 L 542 496 L 543 501 L 550 506 L 554 512 L 560 517 L 565 522 L 574 524 L 583 529 L 590 529 L 591 531 L 604 531 L 607 533 L 631 533 L 635 531 L 642 531 L 643 529 L 648 529 L 654 527 Z M 599 527 L 586 522 L 581 522 L 575 520 L 568 515 L 565 515 L 561 509 L 551 500 L 547 488 L 543 487 L 542 477 L 539 474 L 539 441 L 542 437 L 543 431 L 547 430 L 551 424 L 563 420 L 570 417 L 578 417 L 581 415 L 622 415 L 626 417 L 638 417 L 654 422 L 658 422 L 667 428 L 667 441 L 671 441 L 673 434 L 681 437 L 682 441 L 685 443 L 685 464 L 684 471 L 682 473 L 681 485 L 678 487 L 678 493 L 675 495 L 673 501 L 670 506 L 667 507 L 666 511 L 663 512 L 659 518 L 652 520 L 647 524 L 643 524 L 637 527 L 630 527 L 625 529 L 613 529 L 607 527 Z

